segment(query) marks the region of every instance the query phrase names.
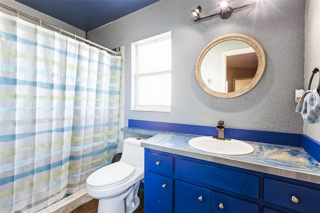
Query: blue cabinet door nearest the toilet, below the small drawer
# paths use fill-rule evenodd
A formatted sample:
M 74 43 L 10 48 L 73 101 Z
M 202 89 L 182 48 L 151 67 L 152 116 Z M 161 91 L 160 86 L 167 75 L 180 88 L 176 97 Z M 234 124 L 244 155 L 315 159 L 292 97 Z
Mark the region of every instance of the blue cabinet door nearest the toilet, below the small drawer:
M 144 212 L 172 212 L 173 179 L 146 171 L 144 176 Z

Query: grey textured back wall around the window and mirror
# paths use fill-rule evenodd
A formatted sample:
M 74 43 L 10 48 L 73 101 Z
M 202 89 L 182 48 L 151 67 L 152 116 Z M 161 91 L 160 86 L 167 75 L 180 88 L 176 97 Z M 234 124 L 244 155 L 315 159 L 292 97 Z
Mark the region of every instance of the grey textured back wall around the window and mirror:
M 232 7 L 247 0 L 230 0 Z M 304 0 L 267 0 L 218 16 L 193 21 L 191 10 L 202 6 L 202 16 L 218 12 L 216 0 L 160 0 L 88 32 L 88 39 L 110 48 L 125 45 L 125 122 L 141 119 L 196 125 L 302 133 L 303 121 L 295 112 L 294 90 L 303 87 Z M 172 31 L 171 112 L 130 111 L 131 42 Z M 266 55 L 259 83 L 234 98 L 213 97 L 197 84 L 195 62 L 212 39 L 243 33 L 256 39 Z

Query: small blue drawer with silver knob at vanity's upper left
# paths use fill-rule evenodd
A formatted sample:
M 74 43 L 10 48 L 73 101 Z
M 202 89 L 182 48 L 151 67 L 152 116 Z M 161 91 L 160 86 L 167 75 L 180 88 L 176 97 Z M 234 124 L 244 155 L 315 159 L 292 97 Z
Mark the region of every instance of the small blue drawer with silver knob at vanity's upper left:
M 144 162 L 147 169 L 151 168 L 172 174 L 173 157 L 146 151 Z

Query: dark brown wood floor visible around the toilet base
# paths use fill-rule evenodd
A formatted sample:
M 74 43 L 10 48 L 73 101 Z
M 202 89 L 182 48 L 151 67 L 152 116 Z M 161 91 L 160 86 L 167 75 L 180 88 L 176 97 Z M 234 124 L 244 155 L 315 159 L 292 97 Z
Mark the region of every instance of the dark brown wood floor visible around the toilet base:
M 142 189 L 138 190 L 138 196 L 140 197 L 140 205 L 133 211 L 133 213 L 143 213 L 144 212 L 144 192 Z M 77 207 L 70 213 L 97 213 L 98 210 L 98 200 L 92 199 L 88 201 L 87 203 Z

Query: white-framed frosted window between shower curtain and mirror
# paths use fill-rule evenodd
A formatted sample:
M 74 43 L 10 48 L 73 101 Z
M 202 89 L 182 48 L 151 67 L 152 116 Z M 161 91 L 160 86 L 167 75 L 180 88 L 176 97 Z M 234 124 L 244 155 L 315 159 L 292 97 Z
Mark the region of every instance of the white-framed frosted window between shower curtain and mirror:
M 131 110 L 170 111 L 171 32 L 131 44 Z

